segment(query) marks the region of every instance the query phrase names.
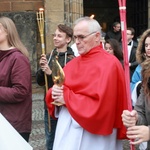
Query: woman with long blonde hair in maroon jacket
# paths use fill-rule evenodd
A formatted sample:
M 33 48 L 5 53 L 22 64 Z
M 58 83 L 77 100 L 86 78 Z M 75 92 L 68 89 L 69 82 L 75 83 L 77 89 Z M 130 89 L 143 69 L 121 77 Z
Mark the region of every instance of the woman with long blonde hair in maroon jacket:
M 13 21 L 0 17 L 0 113 L 28 141 L 31 132 L 31 69 Z

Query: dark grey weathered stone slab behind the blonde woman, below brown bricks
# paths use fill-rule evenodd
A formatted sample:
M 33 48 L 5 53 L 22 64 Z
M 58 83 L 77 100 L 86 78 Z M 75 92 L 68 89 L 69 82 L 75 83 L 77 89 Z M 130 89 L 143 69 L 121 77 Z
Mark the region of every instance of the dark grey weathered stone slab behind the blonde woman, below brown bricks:
M 37 70 L 37 49 L 38 34 L 35 12 L 4 12 L 2 16 L 11 18 L 18 30 L 19 36 L 23 44 L 27 47 L 30 54 L 30 63 L 32 75 Z

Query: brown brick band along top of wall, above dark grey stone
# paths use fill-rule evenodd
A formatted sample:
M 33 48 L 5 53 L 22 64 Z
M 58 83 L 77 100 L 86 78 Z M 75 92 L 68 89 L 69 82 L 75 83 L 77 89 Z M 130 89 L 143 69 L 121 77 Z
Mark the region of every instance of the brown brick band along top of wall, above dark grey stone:
M 0 12 L 37 11 L 44 7 L 43 0 L 0 0 Z

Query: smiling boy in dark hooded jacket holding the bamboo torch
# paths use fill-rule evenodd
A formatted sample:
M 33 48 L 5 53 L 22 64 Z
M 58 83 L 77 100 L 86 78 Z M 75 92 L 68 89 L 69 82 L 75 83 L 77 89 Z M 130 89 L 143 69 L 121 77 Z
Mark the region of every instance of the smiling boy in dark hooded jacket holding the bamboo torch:
M 45 85 L 44 73 L 47 76 L 48 88 L 51 88 L 54 85 L 54 82 L 52 80 L 52 67 L 53 67 L 52 62 L 56 58 L 56 56 L 58 57 L 58 62 L 62 68 L 66 65 L 66 63 L 68 63 L 75 57 L 72 49 L 68 47 L 68 44 L 72 40 L 72 36 L 73 30 L 70 27 L 63 24 L 59 24 L 57 26 L 57 29 L 53 34 L 53 43 L 55 48 L 51 51 L 51 53 L 47 55 L 45 54 L 41 55 L 39 62 L 40 68 L 36 72 L 36 80 L 40 86 Z M 47 150 L 52 150 L 57 119 L 53 119 L 52 117 L 50 117 L 50 124 L 49 124 L 48 117 L 49 114 L 45 103 L 44 123 L 45 123 L 46 147 Z M 49 130 L 49 125 L 51 131 Z

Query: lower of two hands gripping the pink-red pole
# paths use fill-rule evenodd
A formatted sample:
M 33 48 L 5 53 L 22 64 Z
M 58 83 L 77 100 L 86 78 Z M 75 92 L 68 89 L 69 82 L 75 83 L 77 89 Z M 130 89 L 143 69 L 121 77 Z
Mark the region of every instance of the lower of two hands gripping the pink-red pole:
M 150 130 L 147 126 L 133 126 L 127 129 L 127 137 L 129 139 L 134 139 L 130 141 L 131 144 L 140 144 L 150 140 Z

